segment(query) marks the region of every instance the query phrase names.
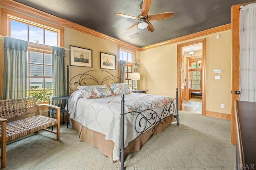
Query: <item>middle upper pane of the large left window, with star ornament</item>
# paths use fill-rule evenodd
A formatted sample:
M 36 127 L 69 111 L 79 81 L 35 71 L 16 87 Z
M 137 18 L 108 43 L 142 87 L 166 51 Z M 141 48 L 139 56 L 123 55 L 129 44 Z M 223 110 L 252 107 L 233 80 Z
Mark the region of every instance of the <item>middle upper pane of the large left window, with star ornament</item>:
M 44 44 L 44 29 L 29 25 L 29 41 Z

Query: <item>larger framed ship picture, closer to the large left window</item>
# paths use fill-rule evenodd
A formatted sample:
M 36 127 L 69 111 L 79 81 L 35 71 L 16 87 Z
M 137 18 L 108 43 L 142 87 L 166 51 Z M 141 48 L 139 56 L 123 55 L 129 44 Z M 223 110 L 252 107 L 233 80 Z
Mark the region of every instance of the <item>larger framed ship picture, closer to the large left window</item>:
M 70 45 L 70 66 L 92 67 L 92 50 Z

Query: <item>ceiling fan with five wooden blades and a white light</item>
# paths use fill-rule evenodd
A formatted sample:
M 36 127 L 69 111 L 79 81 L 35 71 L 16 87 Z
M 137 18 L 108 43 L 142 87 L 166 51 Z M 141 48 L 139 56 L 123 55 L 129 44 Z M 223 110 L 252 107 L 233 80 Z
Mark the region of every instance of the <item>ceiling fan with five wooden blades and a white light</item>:
M 170 17 L 173 16 L 172 12 L 163 12 L 163 13 L 148 16 L 150 3 L 151 3 L 151 0 L 143 0 L 142 4 L 140 4 L 141 13 L 138 17 L 130 16 L 130 15 L 126 15 L 126 14 L 121 14 L 121 13 L 116 12 L 116 15 L 118 15 L 118 16 L 138 20 L 136 23 L 134 23 L 132 26 L 130 26 L 126 30 L 129 30 L 129 29 L 135 27 L 136 25 L 138 25 L 138 27 L 141 28 L 141 29 L 147 28 L 148 31 L 153 32 L 155 30 L 155 28 L 153 27 L 153 25 L 149 21 L 162 20 L 162 19 L 170 18 Z

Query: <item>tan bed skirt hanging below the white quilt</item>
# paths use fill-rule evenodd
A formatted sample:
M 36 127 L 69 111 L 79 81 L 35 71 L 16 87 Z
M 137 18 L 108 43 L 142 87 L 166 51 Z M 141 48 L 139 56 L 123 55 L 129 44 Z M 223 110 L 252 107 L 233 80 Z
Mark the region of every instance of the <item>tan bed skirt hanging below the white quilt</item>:
M 165 122 L 166 121 L 166 122 Z M 154 132 L 153 127 L 140 135 L 132 144 L 128 144 L 129 146 L 125 149 L 124 156 L 128 155 L 131 152 L 136 152 L 140 150 L 142 145 L 150 139 L 152 135 L 156 135 L 166 129 L 170 125 L 171 122 L 176 121 L 174 116 L 168 116 L 165 118 L 165 121 L 162 121 L 159 125 L 155 127 Z M 114 149 L 114 142 L 112 140 L 106 140 L 105 135 L 102 133 L 93 131 L 88 129 L 87 127 L 83 126 L 82 124 L 70 119 L 70 124 L 72 124 L 73 128 L 79 132 L 78 138 L 79 141 L 84 141 L 90 143 L 92 146 L 97 147 L 100 152 L 110 158 L 110 162 L 114 163 L 113 160 L 113 149 Z

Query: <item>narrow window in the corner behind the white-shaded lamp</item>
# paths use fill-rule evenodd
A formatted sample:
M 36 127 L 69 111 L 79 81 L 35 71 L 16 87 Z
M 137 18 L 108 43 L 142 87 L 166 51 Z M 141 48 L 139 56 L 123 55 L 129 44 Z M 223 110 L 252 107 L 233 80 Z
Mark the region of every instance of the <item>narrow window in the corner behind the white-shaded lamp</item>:
M 133 84 L 131 80 L 131 73 L 132 73 L 132 63 L 134 62 L 135 58 L 135 51 L 131 51 L 129 49 L 118 47 L 119 51 L 119 59 L 126 61 L 125 66 L 125 82 L 128 84 L 130 89 L 133 89 Z

